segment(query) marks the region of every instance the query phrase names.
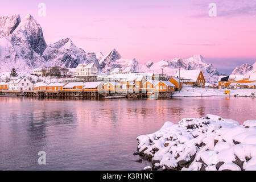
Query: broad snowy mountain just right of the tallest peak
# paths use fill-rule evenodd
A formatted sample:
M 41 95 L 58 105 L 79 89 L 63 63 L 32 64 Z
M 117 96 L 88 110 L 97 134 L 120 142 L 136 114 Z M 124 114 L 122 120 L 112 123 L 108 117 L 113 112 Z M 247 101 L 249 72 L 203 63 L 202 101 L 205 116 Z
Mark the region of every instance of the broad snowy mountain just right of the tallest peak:
M 95 63 L 99 67 L 95 53 L 86 53 L 76 47 L 69 38 L 50 44 L 44 50 L 42 60 L 45 67 L 58 65 L 64 68 L 76 68 L 80 63 Z

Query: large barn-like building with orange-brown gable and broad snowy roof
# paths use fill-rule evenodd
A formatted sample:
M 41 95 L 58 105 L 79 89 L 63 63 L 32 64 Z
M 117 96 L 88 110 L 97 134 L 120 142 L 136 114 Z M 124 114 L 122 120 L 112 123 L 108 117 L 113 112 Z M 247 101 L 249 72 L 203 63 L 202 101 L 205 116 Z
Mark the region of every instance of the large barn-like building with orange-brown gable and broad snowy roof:
M 200 86 L 205 85 L 205 78 L 203 72 L 200 69 L 180 70 L 177 71 L 175 77 L 180 78 L 180 80 L 183 80 L 183 84 L 199 84 Z

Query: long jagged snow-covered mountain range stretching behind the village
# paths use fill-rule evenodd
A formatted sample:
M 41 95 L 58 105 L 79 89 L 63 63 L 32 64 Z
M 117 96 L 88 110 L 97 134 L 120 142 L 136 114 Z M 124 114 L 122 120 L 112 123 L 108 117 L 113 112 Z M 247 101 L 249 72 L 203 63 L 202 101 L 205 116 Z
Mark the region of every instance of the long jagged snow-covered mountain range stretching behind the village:
M 62 39 L 47 46 L 42 28 L 28 14 L 20 20 L 19 15 L 0 17 L 0 71 L 30 72 L 40 67 L 75 68 L 80 63 L 95 63 L 101 72 L 109 73 L 113 68 L 130 68 L 137 72 L 165 73 L 174 76 L 179 68 L 201 69 L 205 78 L 217 80 L 219 73 L 212 64 L 205 63 L 201 55 L 188 59 L 175 58 L 157 63 L 139 64 L 136 59 L 123 59 L 116 49 L 105 56 L 99 53 L 86 53 L 76 47 L 71 39 Z M 2 37 L 2 38 L 1 38 Z

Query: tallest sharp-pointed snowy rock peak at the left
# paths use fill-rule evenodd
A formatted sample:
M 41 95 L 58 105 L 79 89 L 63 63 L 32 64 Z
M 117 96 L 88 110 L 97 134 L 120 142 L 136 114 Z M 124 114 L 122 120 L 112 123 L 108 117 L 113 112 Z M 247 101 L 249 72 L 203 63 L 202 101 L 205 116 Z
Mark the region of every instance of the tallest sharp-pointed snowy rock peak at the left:
M 0 71 L 10 71 L 11 68 L 29 71 L 40 67 L 46 47 L 42 28 L 28 14 L 9 36 L 0 39 Z

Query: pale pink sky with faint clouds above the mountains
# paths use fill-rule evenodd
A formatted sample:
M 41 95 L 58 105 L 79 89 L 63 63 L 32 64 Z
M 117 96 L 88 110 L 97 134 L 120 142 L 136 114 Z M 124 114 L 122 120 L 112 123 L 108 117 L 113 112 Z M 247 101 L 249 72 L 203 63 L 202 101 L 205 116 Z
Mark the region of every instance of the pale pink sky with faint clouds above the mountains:
M 46 3 L 46 17 L 38 16 L 40 2 Z M 208 16 L 212 2 L 217 17 Z M 201 54 L 225 72 L 256 60 L 254 0 L 9 0 L 0 10 L 1 15 L 33 15 L 47 44 L 71 38 L 86 52 L 116 48 L 139 63 Z

